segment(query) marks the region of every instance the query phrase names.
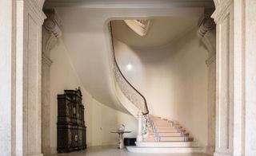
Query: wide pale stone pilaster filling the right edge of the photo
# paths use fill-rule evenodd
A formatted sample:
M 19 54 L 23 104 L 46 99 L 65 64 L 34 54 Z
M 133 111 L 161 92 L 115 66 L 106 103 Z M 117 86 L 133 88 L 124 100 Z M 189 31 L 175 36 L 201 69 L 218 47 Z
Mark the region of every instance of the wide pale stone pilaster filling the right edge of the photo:
M 255 2 L 222 0 L 215 4 L 212 17 L 217 23 L 218 44 L 214 155 L 255 155 Z

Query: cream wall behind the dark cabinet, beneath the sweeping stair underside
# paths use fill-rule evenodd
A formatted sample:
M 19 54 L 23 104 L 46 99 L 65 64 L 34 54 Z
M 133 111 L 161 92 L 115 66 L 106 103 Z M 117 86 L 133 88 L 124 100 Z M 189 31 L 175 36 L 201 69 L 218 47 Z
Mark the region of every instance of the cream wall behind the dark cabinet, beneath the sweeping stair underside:
M 110 134 L 110 131 L 115 131 L 121 123 L 126 125 L 126 130 L 133 131 L 132 134 L 127 135 L 128 137 L 136 137 L 137 121 L 133 116 L 99 103 L 90 96 L 86 88 L 83 88 L 62 38 L 51 50 L 50 58 L 53 60 L 50 67 L 50 146 L 53 153 L 56 152 L 57 146 L 57 95 L 63 94 L 64 89 L 74 89 L 78 86 L 82 89 L 82 102 L 85 105 L 88 146 L 116 144 L 116 135 Z

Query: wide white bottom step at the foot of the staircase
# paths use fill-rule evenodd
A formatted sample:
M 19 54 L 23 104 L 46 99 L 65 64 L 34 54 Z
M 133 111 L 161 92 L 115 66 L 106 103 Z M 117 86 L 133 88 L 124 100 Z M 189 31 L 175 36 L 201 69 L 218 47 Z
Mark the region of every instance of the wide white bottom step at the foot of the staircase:
M 129 152 L 133 153 L 150 153 L 150 154 L 188 154 L 188 153 L 203 153 L 202 147 L 139 147 L 126 146 Z

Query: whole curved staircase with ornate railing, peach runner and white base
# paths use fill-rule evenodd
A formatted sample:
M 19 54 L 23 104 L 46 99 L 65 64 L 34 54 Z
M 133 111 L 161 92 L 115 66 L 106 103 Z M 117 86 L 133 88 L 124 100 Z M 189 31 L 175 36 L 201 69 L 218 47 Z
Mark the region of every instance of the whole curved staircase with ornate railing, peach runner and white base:
M 146 98 L 126 80 L 118 67 L 111 23 L 109 26 L 116 95 L 130 114 L 138 119 L 136 146 L 127 146 L 127 150 L 136 153 L 202 153 L 203 148 L 177 121 L 149 115 Z

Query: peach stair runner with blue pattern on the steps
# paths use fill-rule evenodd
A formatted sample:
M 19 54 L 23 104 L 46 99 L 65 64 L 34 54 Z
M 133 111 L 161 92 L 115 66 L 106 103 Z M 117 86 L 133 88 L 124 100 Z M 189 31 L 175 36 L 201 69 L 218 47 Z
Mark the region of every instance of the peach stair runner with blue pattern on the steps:
M 143 139 L 144 142 L 193 142 L 190 136 L 177 121 L 162 119 L 150 115 L 147 123 L 149 135 Z

